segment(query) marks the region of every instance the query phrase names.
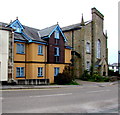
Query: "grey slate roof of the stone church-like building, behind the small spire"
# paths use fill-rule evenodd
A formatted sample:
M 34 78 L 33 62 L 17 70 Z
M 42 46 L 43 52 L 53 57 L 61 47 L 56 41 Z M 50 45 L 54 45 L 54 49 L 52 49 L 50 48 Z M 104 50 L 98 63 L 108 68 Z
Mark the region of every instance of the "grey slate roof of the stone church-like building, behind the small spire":
M 91 21 L 86 21 L 85 22 L 85 25 L 89 24 Z M 70 25 L 70 26 L 66 26 L 66 27 L 63 27 L 62 28 L 62 31 L 69 31 L 69 30 L 72 30 L 72 29 L 81 29 L 81 23 L 77 23 L 77 24 L 73 24 L 73 25 Z

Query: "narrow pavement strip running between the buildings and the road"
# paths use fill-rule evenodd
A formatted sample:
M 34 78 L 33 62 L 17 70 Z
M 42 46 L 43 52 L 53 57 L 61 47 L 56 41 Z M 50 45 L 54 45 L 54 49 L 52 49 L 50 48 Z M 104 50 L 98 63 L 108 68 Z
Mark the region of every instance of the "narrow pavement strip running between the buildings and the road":
M 47 88 L 67 88 L 67 87 L 81 87 L 81 86 L 99 86 L 105 87 L 110 85 L 118 84 L 118 81 L 115 82 L 89 82 L 76 80 L 80 85 L 1 85 L 0 90 L 7 89 L 47 89 Z

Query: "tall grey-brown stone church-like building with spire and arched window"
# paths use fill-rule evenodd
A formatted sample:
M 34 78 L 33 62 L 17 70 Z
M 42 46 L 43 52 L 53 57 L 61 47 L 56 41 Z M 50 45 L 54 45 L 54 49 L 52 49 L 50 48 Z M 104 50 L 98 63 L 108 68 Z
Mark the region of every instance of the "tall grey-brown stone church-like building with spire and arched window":
M 74 73 L 80 77 L 84 70 L 98 71 L 100 75 L 108 75 L 107 33 L 103 32 L 104 16 L 96 8 L 91 9 L 92 20 L 63 27 L 68 45 L 73 47 L 72 62 Z

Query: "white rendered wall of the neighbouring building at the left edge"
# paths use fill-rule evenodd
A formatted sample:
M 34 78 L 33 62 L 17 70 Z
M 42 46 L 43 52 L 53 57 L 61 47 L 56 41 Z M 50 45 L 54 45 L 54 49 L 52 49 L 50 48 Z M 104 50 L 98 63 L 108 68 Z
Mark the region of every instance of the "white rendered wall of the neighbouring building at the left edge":
M 8 80 L 9 31 L 0 30 L 0 81 Z

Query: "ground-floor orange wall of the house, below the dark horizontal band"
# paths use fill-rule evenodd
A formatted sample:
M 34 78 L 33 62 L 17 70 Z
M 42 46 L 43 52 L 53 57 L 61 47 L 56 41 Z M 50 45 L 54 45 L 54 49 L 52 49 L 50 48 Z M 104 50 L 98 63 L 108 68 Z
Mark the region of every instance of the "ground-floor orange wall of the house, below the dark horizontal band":
M 54 67 L 60 68 L 60 73 L 68 64 L 38 64 L 38 63 L 15 63 L 14 64 L 14 79 L 49 79 L 50 83 L 54 83 Z M 24 67 L 25 78 L 16 78 L 16 67 Z M 38 77 L 38 67 L 43 67 L 43 77 Z M 45 72 L 46 71 L 46 72 Z M 26 73 L 25 73 L 26 72 Z

